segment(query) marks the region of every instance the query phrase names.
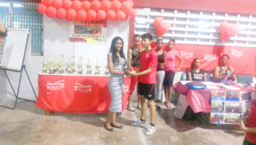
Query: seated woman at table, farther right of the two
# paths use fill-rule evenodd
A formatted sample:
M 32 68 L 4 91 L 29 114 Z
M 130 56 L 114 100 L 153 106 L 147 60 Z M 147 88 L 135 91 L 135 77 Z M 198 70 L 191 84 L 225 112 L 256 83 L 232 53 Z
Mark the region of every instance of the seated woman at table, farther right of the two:
M 216 83 L 229 83 L 230 81 L 235 81 L 237 77 L 235 76 L 235 71 L 232 67 L 227 66 L 227 61 L 229 56 L 224 54 L 221 56 L 221 65 L 214 68 L 213 71 L 213 81 Z

